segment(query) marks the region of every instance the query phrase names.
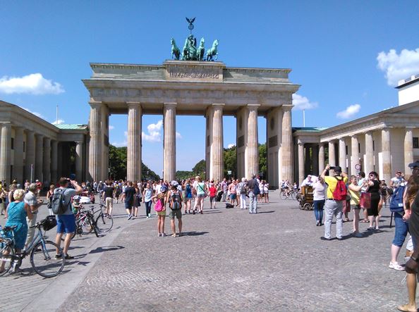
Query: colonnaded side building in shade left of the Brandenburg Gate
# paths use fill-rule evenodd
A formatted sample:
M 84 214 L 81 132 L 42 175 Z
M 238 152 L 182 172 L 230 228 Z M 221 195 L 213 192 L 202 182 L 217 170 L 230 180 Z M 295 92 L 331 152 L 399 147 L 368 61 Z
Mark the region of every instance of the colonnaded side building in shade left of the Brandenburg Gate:
M 51 125 L 19 106 L 0 101 L 0 181 L 56 182 L 85 178 L 87 125 Z

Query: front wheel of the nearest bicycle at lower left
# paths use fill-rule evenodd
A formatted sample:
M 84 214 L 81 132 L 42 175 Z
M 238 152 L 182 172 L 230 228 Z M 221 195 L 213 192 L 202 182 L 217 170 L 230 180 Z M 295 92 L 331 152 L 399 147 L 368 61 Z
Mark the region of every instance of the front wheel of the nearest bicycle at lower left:
M 59 249 L 61 258 L 56 259 L 56 249 Z M 30 251 L 30 264 L 36 273 L 42 277 L 54 277 L 59 275 L 66 264 L 66 258 L 64 257 L 63 250 L 59 248 L 54 242 L 49 240 L 39 242 Z

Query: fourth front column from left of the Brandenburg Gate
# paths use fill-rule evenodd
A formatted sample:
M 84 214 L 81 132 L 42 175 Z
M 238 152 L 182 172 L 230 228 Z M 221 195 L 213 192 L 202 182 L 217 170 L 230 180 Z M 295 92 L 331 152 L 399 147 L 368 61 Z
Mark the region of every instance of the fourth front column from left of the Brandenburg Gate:
M 221 181 L 224 177 L 223 107 L 224 104 L 212 104 L 207 111 L 207 178 L 214 181 Z

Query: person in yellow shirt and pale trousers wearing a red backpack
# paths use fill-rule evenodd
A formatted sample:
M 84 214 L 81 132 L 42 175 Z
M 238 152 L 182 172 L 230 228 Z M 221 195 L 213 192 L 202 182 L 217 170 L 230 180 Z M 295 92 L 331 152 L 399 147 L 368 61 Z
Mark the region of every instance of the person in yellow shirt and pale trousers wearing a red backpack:
M 334 175 L 326 175 L 327 170 L 334 170 Z M 342 211 L 344 204 L 346 203 L 346 182 L 348 182 L 348 175 L 342 173 L 342 168 L 339 166 L 331 167 L 327 164 L 322 174 L 320 175 L 324 182 L 329 185 L 327 187 L 326 203 L 324 204 L 324 237 L 320 237 L 322 240 L 330 240 L 330 232 L 332 230 L 333 216 L 336 217 L 336 238 L 342 239 L 343 220 Z

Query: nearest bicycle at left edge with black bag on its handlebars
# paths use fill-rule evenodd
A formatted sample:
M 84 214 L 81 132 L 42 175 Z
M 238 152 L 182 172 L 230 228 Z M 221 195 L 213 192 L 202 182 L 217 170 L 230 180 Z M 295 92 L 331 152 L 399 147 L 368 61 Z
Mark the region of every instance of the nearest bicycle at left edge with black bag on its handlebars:
M 8 273 L 12 266 L 13 270 L 19 268 L 23 259 L 28 255 L 30 255 L 30 264 L 37 274 L 42 277 L 59 275 L 66 265 L 66 258 L 64 256 L 56 258 L 56 254 L 63 255 L 62 249 L 54 242 L 45 240 L 45 235 L 42 235 L 42 229 L 44 232 L 47 232 L 47 230 L 51 230 L 55 226 L 56 220 L 54 216 L 48 216 L 33 225 L 32 227 L 36 227 L 38 232 L 28 248 L 21 253 L 16 253 L 15 251 L 14 229 L 16 225 L 4 227 L 0 232 L 0 276 Z

